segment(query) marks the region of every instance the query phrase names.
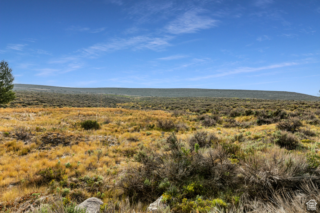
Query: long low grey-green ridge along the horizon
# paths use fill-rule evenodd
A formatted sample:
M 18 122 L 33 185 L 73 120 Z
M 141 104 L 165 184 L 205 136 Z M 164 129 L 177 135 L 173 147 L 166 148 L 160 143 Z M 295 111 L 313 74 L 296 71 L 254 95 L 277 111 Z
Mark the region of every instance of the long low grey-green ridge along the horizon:
M 295 92 L 263 91 L 263 90 L 238 90 L 238 89 L 156 89 L 156 88 L 73 88 L 52 87 L 33 84 L 14 84 L 13 90 L 53 92 L 62 94 L 108 94 L 130 96 L 153 96 L 153 97 L 228 97 L 228 98 L 259 98 L 269 100 L 301 100 L 320 101 L 313 95 Z

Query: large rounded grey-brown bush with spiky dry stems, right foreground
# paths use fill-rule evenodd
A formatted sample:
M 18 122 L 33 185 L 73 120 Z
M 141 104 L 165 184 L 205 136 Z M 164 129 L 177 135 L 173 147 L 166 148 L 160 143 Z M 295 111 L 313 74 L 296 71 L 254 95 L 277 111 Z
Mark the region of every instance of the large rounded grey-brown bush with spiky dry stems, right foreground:
M 241 164 L 236 179 L 238 183 L 242 182 L 243 190 L 252 199 L 268 200 L 280 188 L 290 192 L 298 190 L 302 184 L 312 186 L 312 181 L 318 181 L 318 178 L 313 178 L 317 176 L 318 168 L 310 168 L 305 156 L 279 147 L 271 148 L 262 155 L 255 152 Z

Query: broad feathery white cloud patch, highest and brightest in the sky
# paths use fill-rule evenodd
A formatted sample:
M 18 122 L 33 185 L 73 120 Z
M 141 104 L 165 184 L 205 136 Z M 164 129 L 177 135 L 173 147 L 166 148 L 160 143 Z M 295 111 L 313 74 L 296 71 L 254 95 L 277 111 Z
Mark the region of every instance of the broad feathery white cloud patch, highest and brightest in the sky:
M 185 12 L 164 28 L 171 34 L 196 33 L 199 30 L 216 26 L 217 22 L 210 17 L 200 16 L 199 11 L 193 10 Z

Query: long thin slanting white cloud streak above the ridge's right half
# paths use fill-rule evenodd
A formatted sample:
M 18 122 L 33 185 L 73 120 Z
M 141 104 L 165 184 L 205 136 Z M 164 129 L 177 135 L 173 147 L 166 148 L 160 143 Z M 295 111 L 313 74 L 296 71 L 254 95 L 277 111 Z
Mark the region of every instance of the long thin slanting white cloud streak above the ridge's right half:
M 216 73 L 216 74 L 212 74 L 212 75 L 192 78 L 192 79 L 189 79 L 189 80 L 201 80 L 201 79 L 218 78 L 218 77 L 224 77 L 224 76 L 228 76 L 228 75 L 235 75 L 235 74 L 239 74 L 239 73 L 257 72 L 257 71 L 262 71 L 262 70 L 270 70 L 270 69 L 276 69 L 276 68 L 281 68 L 281 67 L 286 67 L 286 66 L 293 66 L 293 65 L 299 65 L 299 63 L 296 63 L 296 62 L 285 62 L 285 63 L 281 63 L 281 64 L 262 66 L 262 67 L 239 67 L 237 69 L 233 69 L 233 70 L 230 70 L 230 71 L 227 71 L 227 72 L 220 72 L 220 73 Z

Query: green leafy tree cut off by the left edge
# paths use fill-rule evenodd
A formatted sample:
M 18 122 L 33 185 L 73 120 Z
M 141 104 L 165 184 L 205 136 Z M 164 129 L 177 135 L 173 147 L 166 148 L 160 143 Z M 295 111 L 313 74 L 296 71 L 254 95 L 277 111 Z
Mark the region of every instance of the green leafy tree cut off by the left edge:
M 7 61 L 2 60 L 0 62 L 0 107 L 16 98 L 15 93 L 12 91 L 13 80 L 12 69 Z

